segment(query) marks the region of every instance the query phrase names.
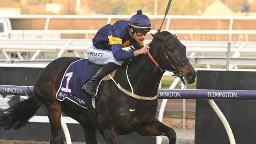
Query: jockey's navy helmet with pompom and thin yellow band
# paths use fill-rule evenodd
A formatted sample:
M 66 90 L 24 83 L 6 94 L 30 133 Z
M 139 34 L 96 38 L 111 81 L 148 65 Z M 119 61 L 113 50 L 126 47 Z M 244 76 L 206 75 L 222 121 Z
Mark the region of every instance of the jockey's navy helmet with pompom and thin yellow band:
M 151 22 L 146 15 L 142 14 L 141 9 L 137 10 L 137 14 L 133 15 L 129 20 L 129 25 L 134 30 L 148 32 L 151 30 Z

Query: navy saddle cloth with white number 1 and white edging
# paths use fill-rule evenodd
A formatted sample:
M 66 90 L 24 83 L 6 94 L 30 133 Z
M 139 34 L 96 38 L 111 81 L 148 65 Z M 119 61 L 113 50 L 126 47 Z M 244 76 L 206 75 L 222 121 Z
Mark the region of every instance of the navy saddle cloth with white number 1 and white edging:
M 71 63 L 61 80 L 56 98 L 59 101 L 67 98 L 81 107 L 87 108 L 86 97 L 88 94 L 81 87 L 93 77 L 100 67 L 101 65 L 91 63 L 88 59 L 80 59 Z

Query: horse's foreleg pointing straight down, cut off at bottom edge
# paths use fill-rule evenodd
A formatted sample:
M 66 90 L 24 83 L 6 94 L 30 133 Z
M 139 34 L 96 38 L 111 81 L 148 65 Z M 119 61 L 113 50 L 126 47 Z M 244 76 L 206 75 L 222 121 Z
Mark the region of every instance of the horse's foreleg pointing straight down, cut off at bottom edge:
M 106 144 L 121 144 L 119 132 L 114 127 L 100 130 L 100 134 L 104 137 Z

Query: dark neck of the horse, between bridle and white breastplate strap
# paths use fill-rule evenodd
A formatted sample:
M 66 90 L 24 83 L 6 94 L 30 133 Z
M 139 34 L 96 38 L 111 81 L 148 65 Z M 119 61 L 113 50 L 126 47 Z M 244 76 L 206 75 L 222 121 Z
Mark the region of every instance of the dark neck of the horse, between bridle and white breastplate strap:
M 159 57 L 157 48 L 150 50 L 151 55 L 156 61 Z M 145 54 L 138 63 L 134 63 L 128 67 L 129 79 L 135 94 L 141 96 L 155 96 L 157 94 L 158 86 L 163 76 L 159 68 L 153 63 L 148 54 Z

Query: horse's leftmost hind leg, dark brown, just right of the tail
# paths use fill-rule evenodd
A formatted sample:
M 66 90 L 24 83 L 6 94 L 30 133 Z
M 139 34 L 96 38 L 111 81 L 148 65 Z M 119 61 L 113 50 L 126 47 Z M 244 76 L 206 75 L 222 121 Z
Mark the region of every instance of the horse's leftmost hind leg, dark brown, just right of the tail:
M 46 103 L 42 104 L 42 107 L 48 115 L 51 125 L 50 144 L 64 144 L 63 138 L 61 137 L 61 105 L 59 102 Z

